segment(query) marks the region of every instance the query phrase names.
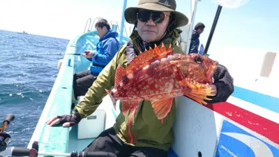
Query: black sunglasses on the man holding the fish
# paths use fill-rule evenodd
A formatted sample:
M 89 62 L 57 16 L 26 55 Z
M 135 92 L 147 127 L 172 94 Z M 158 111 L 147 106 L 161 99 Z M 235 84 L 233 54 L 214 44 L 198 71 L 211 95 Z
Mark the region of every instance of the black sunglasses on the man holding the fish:
M 152 17 L 152 20 L 156 24 L 160 24 L 165 20 L 165 15 L 163 12 L 160 11 L 151 11 L 151 10 L 139 10 L 137 12 L 137 17 L 141 22 L 147 22 L 149 17 Z

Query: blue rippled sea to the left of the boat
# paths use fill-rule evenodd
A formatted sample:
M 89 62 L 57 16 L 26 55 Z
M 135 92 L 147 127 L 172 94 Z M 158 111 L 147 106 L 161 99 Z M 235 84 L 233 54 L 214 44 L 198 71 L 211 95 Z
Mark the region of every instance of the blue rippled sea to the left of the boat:
M 0 124 L 6 114 L 15 115 L 6 128 L 12 137 L 10 146 L 29 144 L 68 42 L 0 30 Z

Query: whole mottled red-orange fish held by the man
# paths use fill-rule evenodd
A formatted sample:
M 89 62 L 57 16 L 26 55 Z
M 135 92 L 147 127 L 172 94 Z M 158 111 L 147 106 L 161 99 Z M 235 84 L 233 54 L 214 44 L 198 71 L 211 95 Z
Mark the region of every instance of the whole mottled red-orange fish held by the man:
M 217 65 L 199 54 L 173 54 L 171 47 L 166 50 L 162 45 L 141 53 L 127 68 L 118 67 L 115 88 L 107 93 L 114 102 L 121 100 L 124 113 L 150 100 L 158 119 L 163 119 L 177 96 L 186 95 L 198 103 L 210 100 L 208 84 Z

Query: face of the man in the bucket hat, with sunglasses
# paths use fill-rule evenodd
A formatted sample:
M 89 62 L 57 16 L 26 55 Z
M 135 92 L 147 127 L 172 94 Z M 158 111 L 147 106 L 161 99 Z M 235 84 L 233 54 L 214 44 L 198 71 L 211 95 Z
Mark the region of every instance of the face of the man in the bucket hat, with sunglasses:
M 150 43 L 163 38 L 169 24 L 169 15 L 169 12 L 139 10 L 137 15 L 137 31 L 142 40 Z

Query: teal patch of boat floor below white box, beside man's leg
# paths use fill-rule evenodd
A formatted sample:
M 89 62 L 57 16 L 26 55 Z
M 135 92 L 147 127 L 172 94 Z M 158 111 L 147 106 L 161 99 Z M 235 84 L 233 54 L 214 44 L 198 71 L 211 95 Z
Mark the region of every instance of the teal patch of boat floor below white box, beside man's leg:
M 68 152 L 80 152 L 85 149 L 95 138 L 77 139 L 77 126 L 73 126 L 69 133 Z

